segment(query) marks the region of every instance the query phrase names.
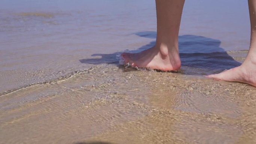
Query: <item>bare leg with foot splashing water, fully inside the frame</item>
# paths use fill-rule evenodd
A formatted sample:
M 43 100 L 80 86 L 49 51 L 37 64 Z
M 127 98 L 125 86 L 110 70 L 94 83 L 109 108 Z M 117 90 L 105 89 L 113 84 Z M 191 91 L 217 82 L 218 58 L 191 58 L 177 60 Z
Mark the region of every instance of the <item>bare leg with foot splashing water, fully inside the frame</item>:
M 178 34 L 184 3 L 185 0 L 156 0 L 156 45 L 140 53 L 122 53 L 126 63 L 163 71 L 180 69 Z

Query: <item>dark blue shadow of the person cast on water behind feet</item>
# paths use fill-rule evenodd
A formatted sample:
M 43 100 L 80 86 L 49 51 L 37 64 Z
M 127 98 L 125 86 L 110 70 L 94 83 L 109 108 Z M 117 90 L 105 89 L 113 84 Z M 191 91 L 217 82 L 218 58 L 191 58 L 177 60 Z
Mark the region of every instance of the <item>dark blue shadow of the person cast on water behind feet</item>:
M 155 31 L 143 31 L 135 33 L 137 36 L 156 39 Z M 179 36 L 179 51 L 182 66 L 192 68 L 203 68 L 208 70 L 225 70 L 241 65 L 235 61 L 223 48 L 220 47 L 220 40 L 211 39 L 203 36 L 183 35 Z M 128 52 L 136 53 L 151 48 L 155 41 L 141 46 L 137 50 Z M 84 64 L 116 64 L 119 65 L 117 55 L 121 52 L 103 54 L 97 53 L 92 56 L 101 56 L 99 59 L 80 59 Z M 193 75 L 193 74 L 192 74 Z

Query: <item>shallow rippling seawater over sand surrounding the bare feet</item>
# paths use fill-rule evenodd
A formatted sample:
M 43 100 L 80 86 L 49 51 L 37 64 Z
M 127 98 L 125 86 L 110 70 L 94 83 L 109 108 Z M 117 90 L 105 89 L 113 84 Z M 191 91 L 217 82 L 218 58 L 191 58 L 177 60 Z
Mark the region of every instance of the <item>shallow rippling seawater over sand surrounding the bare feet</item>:
M 186 1 L 177 73 L 119 65 L 155 43 L 155 2 L 2 0 L 0 143 L 253 144 L 256 90 L 202 75 L 244 61 L 246 1 Z

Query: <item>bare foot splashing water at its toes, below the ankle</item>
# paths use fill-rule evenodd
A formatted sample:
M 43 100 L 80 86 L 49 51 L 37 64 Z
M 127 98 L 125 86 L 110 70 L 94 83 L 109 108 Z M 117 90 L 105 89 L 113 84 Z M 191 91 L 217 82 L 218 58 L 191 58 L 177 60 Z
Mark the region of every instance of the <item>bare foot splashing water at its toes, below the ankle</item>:
M 133 67 L 151 68 L 163 71 L 179 70 L 181 66 L 178 48 L 152 47 L 139 53 L 122 53 L 125 64 Z

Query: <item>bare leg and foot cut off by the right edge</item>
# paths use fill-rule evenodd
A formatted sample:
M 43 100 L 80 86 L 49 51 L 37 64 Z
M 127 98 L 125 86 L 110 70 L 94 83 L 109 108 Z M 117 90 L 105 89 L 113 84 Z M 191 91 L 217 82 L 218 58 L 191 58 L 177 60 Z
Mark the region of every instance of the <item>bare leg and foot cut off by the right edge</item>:
M 231 82 L 243 82 L 256 86 L 256 0 L 248 0 L 248 4 L 251 21 L 251 42 L 245 61 L 239 67 L 207 77 Z

